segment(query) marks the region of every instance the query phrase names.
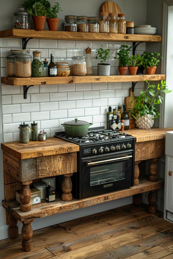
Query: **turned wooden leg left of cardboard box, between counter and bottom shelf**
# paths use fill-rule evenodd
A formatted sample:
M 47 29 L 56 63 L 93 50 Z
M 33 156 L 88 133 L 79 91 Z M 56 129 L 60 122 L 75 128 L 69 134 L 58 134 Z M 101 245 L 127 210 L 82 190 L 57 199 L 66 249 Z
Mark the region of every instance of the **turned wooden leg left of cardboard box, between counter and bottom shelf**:
M 22 203 L 20 205 L 20 209 L 23 212 L 28 212 L 31 210 L 31 205 L 30 205 L 31 191 L 29 188 L 30 183 L 32 183 L 32 181 L 22 182 L 22 188 L 21 188 L 21 194 L 20 194 L 20 199 Z

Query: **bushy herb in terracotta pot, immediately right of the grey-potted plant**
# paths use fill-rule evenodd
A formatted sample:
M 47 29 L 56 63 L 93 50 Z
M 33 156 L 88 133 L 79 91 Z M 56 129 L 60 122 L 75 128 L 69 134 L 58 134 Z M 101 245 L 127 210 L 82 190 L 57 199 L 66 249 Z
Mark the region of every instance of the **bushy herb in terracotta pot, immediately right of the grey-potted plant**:
M 118 58 L 119 60 L 118 70 L 120 75 L 126 75 L 127 73 L 127 69 L 128 69 L 127 65 L 129 64 L 129 53 L 131 48 L 132 47 L 128 45 L 121 45 L 121 47 L 117 49 L 118 53 L 116 53 L 116 56 L 114 57 L 114 59 Z

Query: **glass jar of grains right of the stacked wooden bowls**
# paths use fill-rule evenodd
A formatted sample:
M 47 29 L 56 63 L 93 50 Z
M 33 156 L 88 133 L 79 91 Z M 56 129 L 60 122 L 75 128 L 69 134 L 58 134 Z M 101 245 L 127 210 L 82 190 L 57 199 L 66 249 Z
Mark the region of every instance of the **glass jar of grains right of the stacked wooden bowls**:
M 74 76 L 87 74 L 86 57 L 72 57 L 71 72 Z

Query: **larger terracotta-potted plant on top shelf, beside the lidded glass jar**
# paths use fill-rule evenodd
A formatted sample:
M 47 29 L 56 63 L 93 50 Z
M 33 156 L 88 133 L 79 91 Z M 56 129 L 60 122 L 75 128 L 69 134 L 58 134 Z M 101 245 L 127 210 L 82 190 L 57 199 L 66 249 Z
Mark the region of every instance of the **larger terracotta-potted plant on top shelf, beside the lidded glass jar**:
M 44 30 L 50 13 L 50 3 L 47 0 L 28 0 L 22 6 L 32 16 L 35 30 Z

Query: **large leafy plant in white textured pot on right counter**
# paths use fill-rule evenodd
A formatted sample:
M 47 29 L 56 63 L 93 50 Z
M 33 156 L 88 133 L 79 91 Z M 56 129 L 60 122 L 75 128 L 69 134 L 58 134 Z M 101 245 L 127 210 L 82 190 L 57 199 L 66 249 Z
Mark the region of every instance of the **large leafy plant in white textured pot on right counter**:
M 163 97 L 161 93 L 170 93 L 165 81 L 161 81 L 161 84 L 150 85 L 150 82 L 145 80 L 147 89 L 140 92 L 140 96 L 134 97 L 134 109 L 131 110 L 131 115 L 136 120 L 136 126 L 140 129 L 150 129 L 154 120 L 159 117 L 160 113 L 157 110 L 157 105 L 162 103 Z

